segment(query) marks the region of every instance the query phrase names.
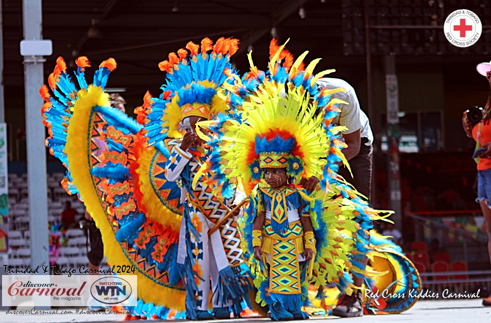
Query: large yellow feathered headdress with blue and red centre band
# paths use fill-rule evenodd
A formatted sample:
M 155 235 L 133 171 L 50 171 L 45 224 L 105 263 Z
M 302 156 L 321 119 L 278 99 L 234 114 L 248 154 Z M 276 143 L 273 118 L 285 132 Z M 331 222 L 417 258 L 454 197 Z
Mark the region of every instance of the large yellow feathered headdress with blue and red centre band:
M 319 59 L 304 68 L 306 54 L 293 62 L 284 45 L 273 40 L 266 73 L 254 66 L 249 54 L 251 71 L 243 78 L 232 74 L 234 82 L 225 84 L 229 102 L 240 116 L 198 123 L 214 133 L 208 142 L 219 152 L 212 154 L 198 176 L 214 173 L 211 178 L 215 183 L 210 184 L 215 186 L 239 178 L 247 194 L 259 183 L 266 167 L 286 168 L 294 178 L 323 177 L 330 141 L 323 127 L 325 113 L 316 115 L 317 107 L 326 103 L 315 83 L 333 70 L 313 76 Z

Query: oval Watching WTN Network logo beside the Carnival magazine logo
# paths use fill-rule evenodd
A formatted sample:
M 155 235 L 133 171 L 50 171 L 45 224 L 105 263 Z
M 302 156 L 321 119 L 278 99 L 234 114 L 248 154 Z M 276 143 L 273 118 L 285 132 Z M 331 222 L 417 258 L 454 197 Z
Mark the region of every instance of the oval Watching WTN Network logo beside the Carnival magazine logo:
M 103 304 L 123 303 L 128 300 L 132 292 L 131 285 L 116 276 L 100 278 L 91 286 L 92 297 Z

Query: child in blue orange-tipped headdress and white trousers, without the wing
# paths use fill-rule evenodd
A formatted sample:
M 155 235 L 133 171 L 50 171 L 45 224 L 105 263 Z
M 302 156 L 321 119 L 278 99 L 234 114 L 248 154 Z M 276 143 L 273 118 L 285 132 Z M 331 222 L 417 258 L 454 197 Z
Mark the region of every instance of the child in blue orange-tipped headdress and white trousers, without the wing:
M 220 91 L 227 79 L 224 71 L 231 68 L 230 57 L 237 51 L 237 44 L 237 39 L 221 38 L 212 46 L 211 40 L 205 38 L 201 53 L 198 54 L 198 45 L 190 42 L 186 46 L 191 52 L 189 57 L 184 57 L 182 49 L 177 52 L 178 61 L 172 62 L 173 57 L 169 56 L 169 60 L 160 66 L 167 71 L 167 83 L 162 86 L 164 95 L 171 92 L 172 99 L 164 107 L 154 104 L 151 108 L 152 111 L 162 109 L 163 113 L 164 130 L 159 130 L 157 135 L 176 138 L 166 141 L 170 157 L 165 164 L 165 177 L 181 187 L 184 213 L 177 264 L 183 268 L 192 265 L 195 273 L 196 286 L 189 280 L 187 282 L 187 302 L 188 308 L 195 307 L 196 319 L 230 318 L 229 307 L 232 305 L 238 316 L 241 301 L 248 298 L 247 280 L 241 278 L 243 260 L 233 216 L 239 211 L 234 211 L 222 225 L 222 228 L 227 227 L 224 236 L 220 231 L 209 235 L 208 231 L 215 223 L 230 212 L 233 199 L 217 199 L 211 188 L 203 185 L 206 178 L 192 185 L 198 168 L 211 153 L 210 147 L 197 136 L 195 125 L 229 110 Z M 210 49 L 213 53 L 208 55 Z M 185 131 L 182 138 L 179 138 L 180 127 Z M 151 137 L 151 126 L 148 129 Z M 228 189 L 234 191 L 232 186 Z M 214 315 L 208 312 L 210 283 Z

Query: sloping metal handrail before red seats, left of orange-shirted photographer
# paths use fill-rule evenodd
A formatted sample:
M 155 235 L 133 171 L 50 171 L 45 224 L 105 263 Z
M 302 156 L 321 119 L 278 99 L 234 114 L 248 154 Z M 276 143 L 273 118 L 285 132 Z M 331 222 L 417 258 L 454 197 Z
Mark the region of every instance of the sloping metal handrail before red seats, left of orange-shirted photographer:
M 474 214 L 476 213 L 476 211 L 472 211 L 472 213 L 470 213 L 471 211 L 445 211 L 445 212 L 441 212 L 441 211 L 434 211 L 434 212 L 425 212 L 425 214 L 429 214 L 431 213 L 431 215 L 456 215 L 456 214 Z M 421 235 L 421 231 L 420 231 L 420 226 L 419 224 L 421 223 L 423 226 L 429 226 L 431 228 L 434 228 L 436 230 L 439 230 L 439 231 L 443 231 L 443 232 L 446 232 L 446 233 L 453 233 L 459 237 L 462 238 L 462 249 L 463 249 L 463 256 L 464 256 L 464 261 L 466 263 L 468 263 L 468 249 L 467 249 L 467 243 L 472 240 L 472 241 L 478 241 L 478 242 L 485 242 L 487 243 L 487 235 L 484 235 L 482 233 L 479 233 L 479 232 L 469 232 L 469 231 L 466 231 L 466 230 L 462 230 L 460 228 L 456 228 L 456 227 L 453 227 L 453 226 L 449 226 L 445 223 L 439 223 L 439 222 L 435 222 L 435 221 L 432 221 L 431 218 L 428 218 L 428 217 L 425 217 L 425 216 L 421 216 L 420 214 L 422 213 L 419 213 L 419 214 L 408 214 L 411 218 L 413 218 L 415 220 L 415 238 L 416 240 L 422 240 L 422 235 Z

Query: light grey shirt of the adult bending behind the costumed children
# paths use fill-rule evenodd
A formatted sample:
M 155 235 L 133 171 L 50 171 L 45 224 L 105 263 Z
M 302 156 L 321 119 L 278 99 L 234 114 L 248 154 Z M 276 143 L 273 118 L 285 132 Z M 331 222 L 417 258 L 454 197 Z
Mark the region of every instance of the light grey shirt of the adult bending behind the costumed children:
M 346 90 L 346 92 L 332 94 L 332 98 L 339 98 L 348 103 L 338 105 L 341 112 L 332 120 L 332 123 L 334 126 L 345 126 L 348 128 L 348 130 L 343 132 L 345 134 L 360 130 L 360 137 L 367 138 L 368 142 L 366 145 L 371 145 L 373 143 L 373 134 L 370 128 L 370 122 L 365 112 L 360 109 L 360 103 L 358 102 L 358 97 L 356 97 L 353 87 L 344 80 L 333 78 L 319 79 L 317 80 L 317 85 L 321 88 L 343 88 Z

